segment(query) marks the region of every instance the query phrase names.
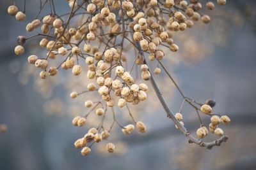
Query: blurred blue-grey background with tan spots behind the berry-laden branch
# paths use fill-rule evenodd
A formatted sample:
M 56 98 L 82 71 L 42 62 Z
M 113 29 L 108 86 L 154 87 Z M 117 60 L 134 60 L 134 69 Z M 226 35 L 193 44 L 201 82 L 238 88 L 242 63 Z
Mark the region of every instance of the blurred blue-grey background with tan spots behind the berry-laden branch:
M 86 80 L 80 77 L 70 83 L 70 73 L 65 78 L 60 73 L 56 80 L 38 80 L 39 71 L 26 60 L 40 49 L 28 43 L 22 56 L 13 50 L 16 37 L 28 35 L 25 27 L 36 16 L 38 2 L 27 1 L 25 22 L 8 16 L 10 4 L 0 2 L 0 124 L 8 128 L 0 133 L 0 169 L 256 169 L 255 1 L 228 1 L 226 6 L 205 11 L 212 22 L 198 22 L 186 34 L 173 35 L 180 52 L 166 59 L 187 96 L 202 103 L 215 99 L 214 111 L 230 117 L 230 125 L 223 127 L 227 143 L 212 150 L 188 144 L 152 91 L 147 104 L 133 110 L 147 125 L 147 133 L 124 136 L 119 129 L 113 136 L 116 154 L 104 153 L 99 145 L 88 157 L 81 156 L 73 144 L 86 127 L 71 124 L 83 102 L 68 99 L 70 89 L 85 88 Z M 67 3 L 57 4 L 60 13 L 68 10 Z M 172 82 L 164 73 L 156 80 L 170 108 L 178 111 L 182 99 Z M 186 106 L 184 119 L 189 131 L 195 132 L 198 118 Z

